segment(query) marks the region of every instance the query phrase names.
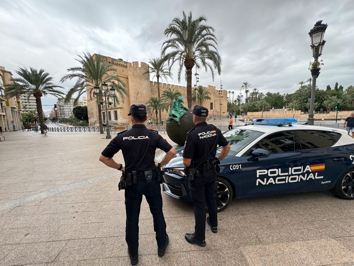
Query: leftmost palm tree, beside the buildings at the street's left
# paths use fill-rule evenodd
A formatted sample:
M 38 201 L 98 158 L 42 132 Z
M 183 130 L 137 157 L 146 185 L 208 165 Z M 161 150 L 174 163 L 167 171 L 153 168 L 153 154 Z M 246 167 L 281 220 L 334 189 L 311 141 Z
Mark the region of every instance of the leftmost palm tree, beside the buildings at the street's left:
M 19 67 L 18 70 L 16 70 L 16 73 L 18 74 L 19 78 L 10 79 L 12 83 L 6 85 L 6 94 L 8 98 L 12 98 L 16 95 L 25 93 L 28 93 L 29 95 L 33 94 L 33 96 L 36 98 L 36 106 L 41 133 L 44 134 L 41 97 L 48 94 L 56 97 L 62 97 L 64 95 L 63 92 L 57 90 L 57 88 L 63 87 L 53 84 L 53 77 L 50 77 L 50 74 L 45 72 L 45 70 L 42 68 L 38 71 L 32 67 L 30 67 L 29 70 L 27 70 L 27 68 Z

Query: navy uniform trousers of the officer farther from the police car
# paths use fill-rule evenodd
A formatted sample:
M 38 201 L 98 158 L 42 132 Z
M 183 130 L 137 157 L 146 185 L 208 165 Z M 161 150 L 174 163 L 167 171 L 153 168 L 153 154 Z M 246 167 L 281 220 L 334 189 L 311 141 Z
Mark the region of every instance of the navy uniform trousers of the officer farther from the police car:
M 125 189 L 125 212 L 127 215 L 125 227 L 125 240 L 132 256 L 138 253 L 139 246 L 139 214 L 141 201 L 145 195 L 149 204 L 150 212 L 153 215 L 154 231 L 158 248 L 162 248 L 166 240 L 166 222 L 162 213 L 161 186 L 153 178 L 150 184 L 145 180 L 138 180 Z

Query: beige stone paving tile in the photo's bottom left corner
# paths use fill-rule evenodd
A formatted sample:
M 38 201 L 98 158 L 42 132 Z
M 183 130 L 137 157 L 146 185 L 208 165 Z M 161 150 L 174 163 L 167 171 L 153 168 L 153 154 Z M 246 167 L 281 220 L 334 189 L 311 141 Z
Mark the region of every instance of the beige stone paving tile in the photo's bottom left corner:
M 52 262 L 68 241 L 39 242 L 19 244 L 1 263 L 4 265 L 23 265 Z

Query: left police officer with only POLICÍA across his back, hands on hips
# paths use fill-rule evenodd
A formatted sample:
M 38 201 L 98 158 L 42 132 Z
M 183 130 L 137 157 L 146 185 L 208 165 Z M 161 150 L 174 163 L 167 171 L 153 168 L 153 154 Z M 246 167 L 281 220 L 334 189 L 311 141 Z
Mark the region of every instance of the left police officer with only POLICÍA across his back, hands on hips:
M 125 240 L 128 244 L 131 265 L 135 265 L 138 263 L 138 222 L 143 195 L 145 195 L 153 216 L 159 256 L 165 254 L 166 246 L 169 243 L 165 218 L 162 213 L 161 186 L 156 180 L 157 172 L 160 169 L 156 169 L 158 164 L 155 164 L 154 158 L 156 148 L 165 151 L 166 155 L 161 161 L 161 165 L 164 165 L 172 159 L 176 151 L 157 131 L 150 131 L 145 127 L 144 122 L 147 120 L 145 105 L 133 104 L 128 115 L 131 116 L 132 128 L 118 133 L 102 151 L 99 160 L 109 167 L 124 171 L 120 185 L 126 185 Z M 124 166 L 112 158 L 119 150 L 122 150 Z

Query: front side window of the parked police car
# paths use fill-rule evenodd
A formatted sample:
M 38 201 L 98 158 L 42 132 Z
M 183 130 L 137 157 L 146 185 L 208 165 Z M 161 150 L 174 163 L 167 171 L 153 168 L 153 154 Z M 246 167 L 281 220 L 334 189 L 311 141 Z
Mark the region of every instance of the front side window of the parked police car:
M 251 152 L 255 149 L 264 149 L 269 151 L 270 154 L 295 151 L 293 131 L 281 131 L 270 134 L 253 146 L 245 155 L 251 155 Z

